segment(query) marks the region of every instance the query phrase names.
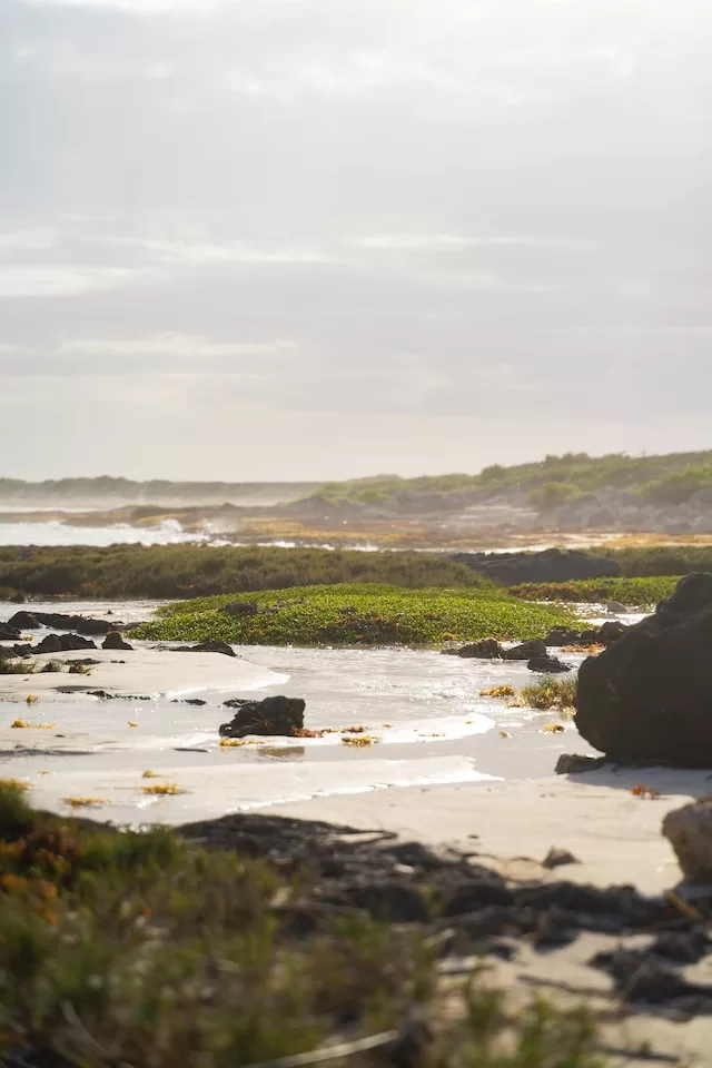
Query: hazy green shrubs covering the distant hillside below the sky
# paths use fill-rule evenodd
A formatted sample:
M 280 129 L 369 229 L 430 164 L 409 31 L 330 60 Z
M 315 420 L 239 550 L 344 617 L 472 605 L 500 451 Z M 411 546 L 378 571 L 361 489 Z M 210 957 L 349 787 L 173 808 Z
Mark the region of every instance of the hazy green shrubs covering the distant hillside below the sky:
M 352 482 L 328 482 L 319 487 L 315 496 L 332 504 L 393 504 L 404 498 L 439 496 L 443 506 L 446 506 L 448 497 L 459 494 L 486 500 L 507 490 L 525 490 L 530 491 L 531 503 L 546 510 L 564 503 L 568 497 L 593 493 L 606 486 L 640 493 L 657 503 L 683 503 L 699 490 L 712 486 L 712 451 L 663 456 L 613 453 L 595 457 L 586 453 L 566 453 L 514 467 L 493 464 L 478 475 L 433 475 L 421 478 L 379 475 Z

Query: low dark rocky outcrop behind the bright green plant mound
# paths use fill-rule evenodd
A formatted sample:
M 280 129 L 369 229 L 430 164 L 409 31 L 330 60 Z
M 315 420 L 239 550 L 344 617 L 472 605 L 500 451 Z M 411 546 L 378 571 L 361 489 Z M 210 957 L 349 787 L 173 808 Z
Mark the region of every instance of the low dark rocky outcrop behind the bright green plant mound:
M 574 582 L 577 578 L 615 578 L 614 560 L 590 556 L 575 550 L 547 548 L 541 553 L 457 553 L 457 563 L 503 586 L 522 582 Z

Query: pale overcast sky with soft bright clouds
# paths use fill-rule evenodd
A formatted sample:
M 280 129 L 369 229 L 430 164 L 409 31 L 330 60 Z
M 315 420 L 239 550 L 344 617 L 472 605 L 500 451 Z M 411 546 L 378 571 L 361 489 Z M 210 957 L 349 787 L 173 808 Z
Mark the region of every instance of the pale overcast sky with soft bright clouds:
M 0 0 L 0 475 L 712 447 L 709 0 Z

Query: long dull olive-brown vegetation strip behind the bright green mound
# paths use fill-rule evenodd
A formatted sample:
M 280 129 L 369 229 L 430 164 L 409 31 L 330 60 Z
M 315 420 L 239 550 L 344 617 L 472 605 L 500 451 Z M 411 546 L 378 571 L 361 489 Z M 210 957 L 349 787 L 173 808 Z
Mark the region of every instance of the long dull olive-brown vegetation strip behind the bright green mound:
M 191 597 L 343 582 L 486 585 L 469 567 L 435 553 L 204 545 L 0 547 L 0 584 L 34 596 Z

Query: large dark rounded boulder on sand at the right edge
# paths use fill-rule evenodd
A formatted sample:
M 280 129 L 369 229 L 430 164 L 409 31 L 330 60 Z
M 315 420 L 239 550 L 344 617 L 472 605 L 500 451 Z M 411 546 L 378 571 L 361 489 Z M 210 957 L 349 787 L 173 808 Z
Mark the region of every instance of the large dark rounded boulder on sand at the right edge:
M 712 768 L 711 649 L 712 574 L 691 574 L 581 665 L 580 733 L 615 760 Z

